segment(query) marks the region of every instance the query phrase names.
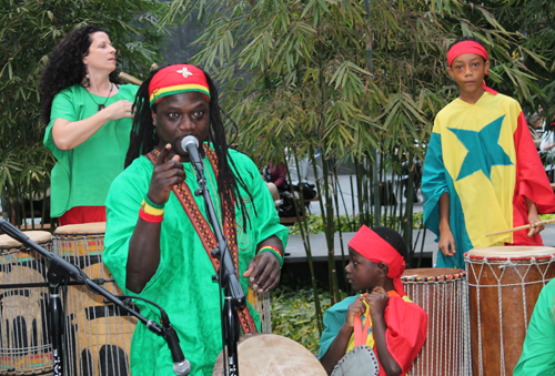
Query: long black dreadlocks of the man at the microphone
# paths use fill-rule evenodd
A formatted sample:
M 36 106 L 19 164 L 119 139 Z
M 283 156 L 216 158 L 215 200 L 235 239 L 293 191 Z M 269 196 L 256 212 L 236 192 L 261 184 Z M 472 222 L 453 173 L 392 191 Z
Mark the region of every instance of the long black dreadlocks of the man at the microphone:
M 128 154 L 125 155 L 125 169 L 133 162 L 133 160 L 141 155 L 148 154 L 160 143 L 160 139 L 158 138 L 155 126 L 152 121 L 152 111 L 157 113 L 158 105 L 157 103 L 154 103 L 152 104 L 152 108 L 150 106 L 149 85 L 154 74 L 157 74 L 158 71 L 165 67 L 151 71 L 147 80 L 143 81 L 143 83 L 139 88 L 139 91 L 137 92 L 135 101 L 133 103 L 133 111 L 135 114 L 133 118 L 133 125 L 131 128 L 129 150 Z M 212 148 L 218 156 L 218 187 L 220 192 L 230 193 L 223 194 L 223 200 L 228 205 L 230 205 L 229 207 L 234 207 L 235 203 L 239 202 L 244 224 L 243 231 L 246 232 L 246 224 L 249 223 L 250 226 L 251 222 L 249 216 L 246 215 L 246 206 L 239 191 L 239 186 L 241 186 L 249 195 L 251 202 L 253 203 L 254 213 L 256 214 L 254 200 L 243 179 L 236 172 L 238 170 L 235 167 L 235 163 L 230 157 L 229 146 L 225 140 L 225 128 L 223 125 L 221 116 L 221 112 L 223 111 L 220 108 L 218 100 L 218 90 L 210 75 L 203 70 L 202 72 L 206 77 L 206 83 L 210 90 L 210 123 L 208 141 L 212 144 Z

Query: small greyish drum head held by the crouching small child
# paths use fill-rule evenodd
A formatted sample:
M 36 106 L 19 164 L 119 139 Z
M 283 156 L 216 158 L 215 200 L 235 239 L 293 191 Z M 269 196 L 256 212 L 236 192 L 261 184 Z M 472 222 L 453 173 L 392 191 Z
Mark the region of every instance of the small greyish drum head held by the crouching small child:
M 380 365 L 374 350 L 366 345 L 356 346 L 345 354 L 333 368 L 332 376 L 377 376 Z

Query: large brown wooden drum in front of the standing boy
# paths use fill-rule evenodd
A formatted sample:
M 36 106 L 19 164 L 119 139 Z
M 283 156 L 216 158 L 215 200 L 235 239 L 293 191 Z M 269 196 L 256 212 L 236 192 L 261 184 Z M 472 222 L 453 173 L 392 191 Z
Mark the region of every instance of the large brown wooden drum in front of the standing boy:
M 495 246 L 465 254 L 474 376 L 512 375 L 555 248 Z

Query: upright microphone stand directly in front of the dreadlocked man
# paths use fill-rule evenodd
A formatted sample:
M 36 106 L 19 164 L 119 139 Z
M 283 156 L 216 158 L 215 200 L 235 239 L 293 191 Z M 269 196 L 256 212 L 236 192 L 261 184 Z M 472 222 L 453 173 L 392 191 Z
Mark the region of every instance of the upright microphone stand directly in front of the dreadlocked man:
M 220 260 L 219 275 L 215 275 L 213 278 L 218 280 L 220 288 L 224 288 L 222 336 L 224 339 L 224 346 L 228 348 L 228 356 L 224 354 L 224 364 L 228 362 L 228 374 L 225 376 L 238 376 L 238 342 L 241 333 L 238 308 L 246 304 L 246 297 L 244 296 L 243 288 L 239 282 L 235 266 L 233 265 L 230 250 L 228 248 L 228 242 L 222 234 L 220 222 L 218 222 L 218 216 L 215 215 L 212 197 L 210 196 L 210 192 L 206 186 L 206 179 L 204 176 L 202 162 L 195 163 L 191 160 L 191 164 L 196 171 L 196 182 L 199 183 L 199 190 L 194 191 L 194 194 L 203 195 L 209 220 L 212 223 L 212 228 L 214 230 L 214 235 L 218 241 L 218 248 L 212 250 L 211 253 L 212 256 Z

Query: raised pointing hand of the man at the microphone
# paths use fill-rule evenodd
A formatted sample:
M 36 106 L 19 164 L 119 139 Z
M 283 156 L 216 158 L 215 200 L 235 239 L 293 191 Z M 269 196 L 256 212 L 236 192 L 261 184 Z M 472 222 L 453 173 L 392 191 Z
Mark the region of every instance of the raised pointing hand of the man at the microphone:
M 148 196 L 159 205 L 165 204 L 170 199 L 172 187 L 185 180 L 183 164 L 179 161 L 180 156 L 174 155 L 170 161 L 167 161 L 171 149 L 171 144 L 167 144 L 160 152 L 150 180 Z

